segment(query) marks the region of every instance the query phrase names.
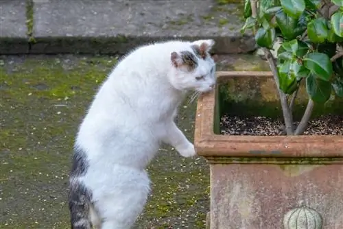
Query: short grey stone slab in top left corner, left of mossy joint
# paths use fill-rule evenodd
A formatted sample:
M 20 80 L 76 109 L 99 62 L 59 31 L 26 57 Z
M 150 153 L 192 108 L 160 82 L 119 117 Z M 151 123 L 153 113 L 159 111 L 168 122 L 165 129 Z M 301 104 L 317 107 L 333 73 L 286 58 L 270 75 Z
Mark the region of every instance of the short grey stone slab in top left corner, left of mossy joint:
M 0 0 L 0 53 L 27 53 L 25 0 Z

